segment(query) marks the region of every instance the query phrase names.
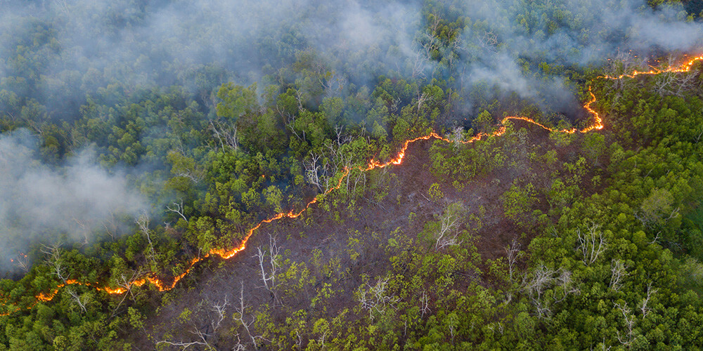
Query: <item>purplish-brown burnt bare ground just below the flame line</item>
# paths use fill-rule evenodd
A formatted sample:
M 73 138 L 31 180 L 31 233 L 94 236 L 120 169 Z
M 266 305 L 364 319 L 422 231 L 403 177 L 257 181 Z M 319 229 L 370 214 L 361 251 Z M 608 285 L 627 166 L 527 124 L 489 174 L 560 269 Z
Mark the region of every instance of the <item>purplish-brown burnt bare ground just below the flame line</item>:
M 545 147 L 546 133 L 536 132 L 536 136 L 530 137 L 528 144 L 533 148 Z M 276 297 L 264 287 L 259 274 L 259 258 L 254 255 L 258 252 L 257 247 L 267 248 L 270 244 L 270 237 L 276 238 L 276 244 L 280 248 L 284 258 L 297 262 L 306 262 L 311 274 L 323 276 L 316 271 L 316 267 L 311 264 L 314 251 L 319 251 L 324 257 L 333 257 L 337 253 L 342 253 L 349 248 L 349 237 L 361 237 L 361 249 L 359 258 L 347 260 L 340 265 L 347 274 L 344 279 L 335 286 L 335 289 L 342 289 L 347 292 L 347 296 L 340 296 L 340 306 L 334 308 L 330 306 L 330 315 L 335 310 L 345 307 L 344 303 L 353 300 L 354 290 L 362 283 L 362 275 L 367 274 L 373 277 L 387 271 L 389 261 L 385 250 L 379 247 L 379 243 L 387 242 L 389 233 L 400 228 L 401 232 L 416 237 L 423 230 L 423 225 L 428 220 L 434 220 L 434 216 L 440 214 L 446 204 L 453 201 L 463 201 L 470 213 L 479 216 L 479 208 L 484 208 L 482 216 L 482 227 L 477 231 L 477 249 L 484 259 L 495 259 L 505 255 L 505 246 L 508 246 L 512 239 L 520 238 L 524 229 L 517 228 L 512 221 L 503 216 L 503 204 L 501 194 L 510 188 L 515 178 L 527 177 L 535 178 L 536 175 L 531 167 L 524 167 L 523 173 L 515 171 L 505 171 L 503 169 L 489 173 L 486 176 L 478 177 L 466 183 L 462 190 L 456 190 L 451 185 L 452 180 L 437 179 L 429 170 L 430 157 L 428 150 L 432 141 L 421 141 L 414 143 L 406 152 L 406 159 L 403 164 L 391 166 L 384 169 L 371 171 L 375 174 L 369 175 L 368 182 L 387 182 L 387 195 L 380 200 L 375 200 L 377 194 L 367 192 L 363 199 L 357 200 L 356 206 L 349 211 L 340 211 L 347 205 L 346 201 L 340 201 L 344 206 L 337 206 L 333 211 L 324 211 L 319 206 L 315 206 L 309 213 L 304 214 L 295 220 L 283 219 L 263 225 L 247 244 L 247 249 L 231 260 L 208 260 L 191 273 L 183 282 L 176 286 L 174 291 L 169 292 L 168 300 L 148 321 L 148 328 L 151 335 L 162 336 L 170 333 L 174 334 L 174 325 L 182 325 L 179 315 L 184 309 L 199 309 L 200 314 L 193 314 L 188 323 L 188 331 L 181 330 L 181 334 L 193 338 L 195 330 L 210 331 L 214 328 L 214 317 L 212 305 L 222 302 L 225 299 L 230 303 L 228 316 L 231 316 L 233 306 L 239 306 L 239 298 L 244 297 L 244 304 L 254 309 L 262 305 L 276 305 Z M 511 157 L 512 155 L 508 155 Z M 385 173 L 385 174 L 381 174 Z M 433 183 L 439 183 L 441 191 L 446 199 L 444 202 L 436 203 L 428 198 L 428 189 Z M 333 197 L 325 201 L 331 201 Z M 545 204 L 541 204 L 545 206 Z M 335 217 L 335 211 L 337 211 Z M 352 213 L 353 212 L 353 213 Z M 408 221 L 408 216 L 415 213 L 415 219 Z M 527 233 L 522 241 L 528 241 L 534 237 L 535 233 Z M 370 237 L 377 239 L 364 239 Z M 529 242 L 529 241 L 528 241 Z M 323 284 L 323 279 L 319 280 L 315 289 Z M 288 311 L 306 309 L 308 303 L 314 297 L 315 291 L 304 290 L 303 296 L 299 296 L 299 305 L 286 305 Z M 349 306 L 346 306 L 349 307 Z M 211 311 L 211 312 L 208 312 Z M 250 309 L 249 309 L 250 311 Z M 217 316 L 216 316 L 217 317 Z M 247 317 L 251 321 L 252 317 Z M 283 318 L 283 316 L 278 316 Z M 180 323 L 180 324 L 176 324 Z M 229 328 L 224 322 L 224 328 Z M 191 330 L 192 329 L 192 330 Z M 189 334 L 190 333 L 190 334 Z M 244 338 L 245 336 L 240 336 Z M 230 340 L 231 342 L 231 340 Z M 229 344 L 224 344 L 229 345 Z

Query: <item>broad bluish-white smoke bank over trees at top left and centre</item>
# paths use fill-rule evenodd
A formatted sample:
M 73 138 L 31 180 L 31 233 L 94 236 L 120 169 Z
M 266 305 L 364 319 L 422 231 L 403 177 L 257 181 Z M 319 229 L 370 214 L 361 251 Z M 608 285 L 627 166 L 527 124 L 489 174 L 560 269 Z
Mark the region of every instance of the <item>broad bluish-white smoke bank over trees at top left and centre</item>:
M 47 104 L 63 105 L 67 100 L 80 103 L 86 93 L 113 83 L 179 84 L 193 92 L 226 81 L 248 85 L 290 65 L 296 51 L 306 48 L 327 58 L 330 69 L 346 74 L 345 79 L 368 83 L 405 65 L 415 53 L 413 37 L 422 25 L 420 4 L 413 1 L 12 4 L 0 10 L 5 33 L 0 34 L 0 52 L 9 54 L 0 65 L 0 78 L 22 75 L 25 62 L 14 59 L 19 46 L 41 52 L 47 60 L 35 69 L 40 91 L 34 93 Z M 37 41 L 41 47 L 33 48 Z

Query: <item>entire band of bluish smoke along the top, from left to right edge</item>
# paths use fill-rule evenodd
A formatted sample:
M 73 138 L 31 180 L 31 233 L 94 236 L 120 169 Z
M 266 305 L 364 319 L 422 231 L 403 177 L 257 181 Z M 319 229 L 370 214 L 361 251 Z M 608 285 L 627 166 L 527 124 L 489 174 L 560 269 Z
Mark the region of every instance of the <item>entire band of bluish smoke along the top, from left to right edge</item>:
M 618 51 L 646 55 L 703 44 L 701 24 L 686 22 L 683 8 L 654 10 L 642 0 L 440 2 L 467 19 L 455 64 L 460 69 L 451 71 L 460 76 L 455 78 L 466 86 L 488 81 L 525 98 L 575 103 L 550 95 L 560 89 L 524 72 L 520 59 L 533 69 L 536 62 L 598 65 Z M 419 1 L 1 3 L 0 53 L 8 59 L 1 62 L 0 77 L 21 74 L 15 48 L 41 41 L 41 35 L 25 38 L 22 33 L 44 23 L 46 36 L 56 40 L 47 39 L 39 49 L 49 60 L 39 67 L 40 91 L 34 93 L 47 103 L 62 103 L 65 111 L 75 112 L 65 106 L 68 102 L 79 104 L 86 93 L 115 82 L 181 84 L 200 95 L 225 81 L 250 84 L 290 65 L 306 48 L 314 48 L 328 69 L 355 84 L 389 71 L 417 73 L 418 58 L 430 56 L 423 52 L 423 11 L 433 10 Z M 436 64 L 427 60 L 423 68 L 432 71 Z M 55 114 L 71 117 L 70 111 Z

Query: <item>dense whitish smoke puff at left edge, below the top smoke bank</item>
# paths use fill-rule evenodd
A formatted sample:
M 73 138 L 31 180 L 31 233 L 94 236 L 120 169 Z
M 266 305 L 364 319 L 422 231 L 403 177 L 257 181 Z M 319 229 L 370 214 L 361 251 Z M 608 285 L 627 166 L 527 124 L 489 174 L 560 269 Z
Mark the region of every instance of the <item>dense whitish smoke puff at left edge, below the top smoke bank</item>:
M 0 135 L 0 270 L 28 244 L 93 243 L 96 231 L 123 232 L 122 219 L 146 207 L 124 174 L 96 166 L 86 150 L 65 166 L 37 159 L 37 140 L 27 131 Z

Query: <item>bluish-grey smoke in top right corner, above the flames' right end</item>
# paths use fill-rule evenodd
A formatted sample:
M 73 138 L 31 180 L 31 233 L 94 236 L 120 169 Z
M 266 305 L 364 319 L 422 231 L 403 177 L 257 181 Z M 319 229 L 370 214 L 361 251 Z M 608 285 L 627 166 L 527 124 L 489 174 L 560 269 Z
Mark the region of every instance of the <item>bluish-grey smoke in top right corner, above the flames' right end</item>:
M 686 21 L 680 6 L 654 10 L 641 0 L 471 0 L 463 1 L 462 9 L 467 18 L 458 50 L 463 82 L 488 82 L 557 110 L 578 104 L 562 79 L 544 81 L 536 74 L 540 62 L 557 68 L 602 65 L 620 51 L 644 56 L 703 49 L 703 25 Z

